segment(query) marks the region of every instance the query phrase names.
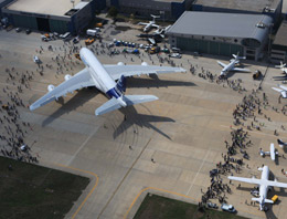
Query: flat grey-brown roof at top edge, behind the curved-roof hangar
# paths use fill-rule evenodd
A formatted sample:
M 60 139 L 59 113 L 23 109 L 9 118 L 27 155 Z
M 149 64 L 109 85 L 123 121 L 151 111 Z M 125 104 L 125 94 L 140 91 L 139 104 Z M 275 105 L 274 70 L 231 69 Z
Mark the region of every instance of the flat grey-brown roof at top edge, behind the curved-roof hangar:
M 280 1 L 281 0 L 195 0 L 193 4 L 241 11 L 254 11 L 262 13 L 266 7 L 268 7 L 269 9 L 277 9 Z

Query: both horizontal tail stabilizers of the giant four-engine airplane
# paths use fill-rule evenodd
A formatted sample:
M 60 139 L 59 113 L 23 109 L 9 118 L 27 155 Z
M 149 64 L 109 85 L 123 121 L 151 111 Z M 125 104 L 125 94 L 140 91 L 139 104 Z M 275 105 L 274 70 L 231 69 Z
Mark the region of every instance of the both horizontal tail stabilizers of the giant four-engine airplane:
M 127 104 L 127 106 L 146 103 L 146 102 L 151 102 L 151 101 L 156 101 L 156 100 L 158 100 L 158 97 L 153 96 L 153 95 L 124 95 L 123 96 L 123 101 Z M 105 113 L 109 113 L 111 111 L 118 109 L 121 106 L 123 105 L 120 104 L 120 102 L 117 98 L 113 97 L 108 102 L 106 102 L 102 106 L 99 106 L 95 111 L 95 115 L 96 116 L 103 115 Z

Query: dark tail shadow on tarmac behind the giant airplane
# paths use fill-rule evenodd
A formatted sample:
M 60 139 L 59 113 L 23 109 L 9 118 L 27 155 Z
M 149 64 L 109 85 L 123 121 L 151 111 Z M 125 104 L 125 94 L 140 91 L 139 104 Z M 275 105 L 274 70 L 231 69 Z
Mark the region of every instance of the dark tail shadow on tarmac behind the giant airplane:
M 164 116 L 156 116 L 156 115 L 144 115 L 138 114 L 135 106 L 128 106 L 125 108 L 119 109 L 120 113 L 125 115 L 125 119 L 118 125 L 118 127 L 115 129 L 113 137 L 114 139 L 117 138 L 121 133 L 127 131 L 130 126 L 137 125 L 139 127 L 147 127 L 156 131 L 158 134 L 162 135 L 163 137 L 167 137 L 171 140 L 169 135 L 157 128 L 151 123 L 162 123 L 162 122 L 172 122 L 174 123 L 172 118 L 164 117 Z

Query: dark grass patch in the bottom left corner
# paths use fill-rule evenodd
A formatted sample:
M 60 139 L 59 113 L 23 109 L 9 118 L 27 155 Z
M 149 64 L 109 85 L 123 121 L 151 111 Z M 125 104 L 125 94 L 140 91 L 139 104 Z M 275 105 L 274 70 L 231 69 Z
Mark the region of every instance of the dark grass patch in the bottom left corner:
M 64 218 L 88 182 L 82 176 L 0 157 L 0 218 Z

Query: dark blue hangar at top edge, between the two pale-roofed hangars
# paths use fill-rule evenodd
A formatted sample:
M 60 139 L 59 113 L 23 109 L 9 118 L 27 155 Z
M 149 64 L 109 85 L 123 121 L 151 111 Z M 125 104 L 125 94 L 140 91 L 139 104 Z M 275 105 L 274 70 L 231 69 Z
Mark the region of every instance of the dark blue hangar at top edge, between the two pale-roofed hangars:
M 162 20 L 177 20 L 191 7 L 191 2 L 192 0 L 107 0 L 107 6 L 137 17 L 150 18 L 150 14 L 160 14 Z

